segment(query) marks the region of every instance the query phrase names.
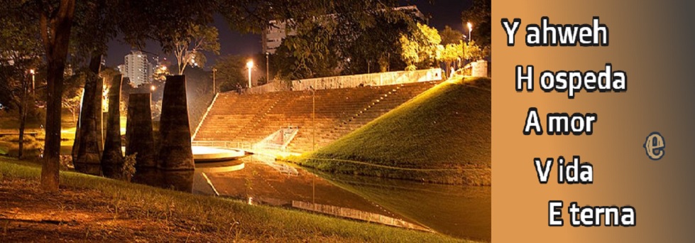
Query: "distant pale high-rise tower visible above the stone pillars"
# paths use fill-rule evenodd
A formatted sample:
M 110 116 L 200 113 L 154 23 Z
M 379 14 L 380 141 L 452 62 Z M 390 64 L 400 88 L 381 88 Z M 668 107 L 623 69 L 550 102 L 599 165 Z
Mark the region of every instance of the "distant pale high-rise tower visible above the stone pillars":
M 138 87 L 153 80 L 154 69 L 147 55 L 139 50 L 132 50 L 126 55 L 124 65 L 119 65 L 123 77 L 128 77 L 131 85 Z

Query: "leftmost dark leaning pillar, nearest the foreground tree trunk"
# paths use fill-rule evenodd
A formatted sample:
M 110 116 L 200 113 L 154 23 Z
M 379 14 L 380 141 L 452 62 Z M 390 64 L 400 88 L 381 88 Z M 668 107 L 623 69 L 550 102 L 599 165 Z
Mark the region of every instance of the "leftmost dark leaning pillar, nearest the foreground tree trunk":
M 102 55 L 94 54 L 89 61 L 87 80 L 84 82 L 84 96 L 82 97 L 82 112 L 80 113 L 80 128 L 77 146 L 73 146 L 76 157 L 73 158 L 75 171 L 91 175 L 101 175 L 102 166 L 102 131 L 99 129 L 102 117 L 102 89 L 103 82 L 99 77 Z

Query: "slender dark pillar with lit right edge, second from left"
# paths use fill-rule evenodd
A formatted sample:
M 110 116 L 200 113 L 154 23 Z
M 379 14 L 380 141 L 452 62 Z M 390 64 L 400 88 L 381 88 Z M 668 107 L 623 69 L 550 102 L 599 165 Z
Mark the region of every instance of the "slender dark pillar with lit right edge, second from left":
M 109 89 L 109 113 L 106 116 L 106 140 L 102 156 L 104 176 L 121 178 L 123 152 L 121 151 L 121 75 L 114 76 Z

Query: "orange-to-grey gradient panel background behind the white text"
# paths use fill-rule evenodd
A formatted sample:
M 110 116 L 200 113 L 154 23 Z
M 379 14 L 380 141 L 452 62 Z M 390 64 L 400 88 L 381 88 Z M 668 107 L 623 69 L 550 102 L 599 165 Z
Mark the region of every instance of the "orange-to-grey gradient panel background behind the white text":
M 493 0 L 493 242 L 694 242 L 695 238 L 695 14 L 678 1 Z M 525 45 L 525 26 L 591 23 L 610 30 L 608 47 Z M 516 46 L 505 44 L 501 18 L 521 18 Z M 475 39 L 475 36 L 473 36 Z M 542 70 L 601 71 L 606 63 L 628 75 L 625 93 L 545 93 Z M 535 92 L 515 91 L 515 65 L 535 66 Z M 598 114 L 592 136 L 524 136 L 529 107 L 544 131 L 551 112 Z M 666 155 L 651 161 L 642 148 L 652 131 Z M 541 185 L 532 159 L 581 156 L 594 168 L 593 185 L 557 184 L 557 163 Z M 544 161 L 544 159 L 543 159 Z M 548 227 L 548 201 L 563 200 L 564 227 Z M 567 205 L 632 205 L 636 227 L 572 227 Z

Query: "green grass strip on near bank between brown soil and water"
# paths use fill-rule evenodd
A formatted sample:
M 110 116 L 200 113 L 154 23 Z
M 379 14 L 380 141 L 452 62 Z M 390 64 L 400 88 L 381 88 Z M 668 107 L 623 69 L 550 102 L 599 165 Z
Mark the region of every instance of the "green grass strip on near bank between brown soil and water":
M 0 180 L 19 178 L 38 180 L 40 168 L 0 157 Z M 141 220 L 195 222 L 195 228 L 207 234 L 224 234 L 229 225 L 240 225 L 241 238 L 261 242 L 457 242 L 439 234 L 340 220 L 295 210 L 246 205 L 235 200 L 192 195 L 145 185 L 84 175 L 61 173 L 61 184 L 69 188 L 98 190 L 119 207 L 141 210 L 149 215 Z M 172 210 L 175 208 L 175 210 Z M 146 212 L 146 213 L 144 213 Z M 148 218 L 149 217 L 149 218 Z M 153 234 L 165 232 L 153 232 Z M 225 236 L 220 236 L 225 237 Z M 234 234 L 228 239 L 234 239 Z

